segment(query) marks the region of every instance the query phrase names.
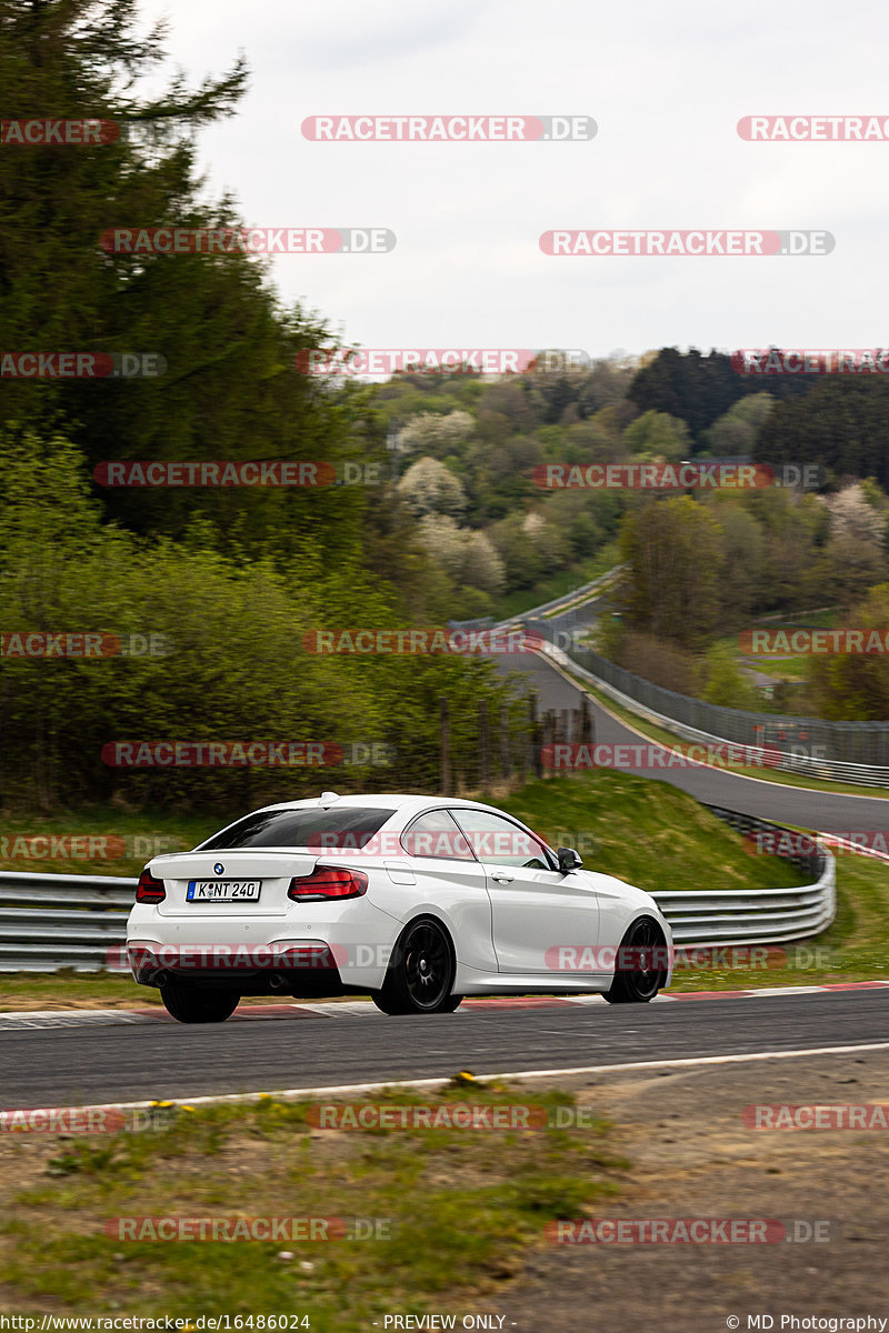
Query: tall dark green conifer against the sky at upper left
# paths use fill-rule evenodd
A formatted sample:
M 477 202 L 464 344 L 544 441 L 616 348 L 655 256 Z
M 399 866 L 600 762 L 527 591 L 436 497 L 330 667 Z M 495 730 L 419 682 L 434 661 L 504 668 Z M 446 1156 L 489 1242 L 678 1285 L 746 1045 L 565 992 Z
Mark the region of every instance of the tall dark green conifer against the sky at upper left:
M 281 308 L 268 263 L 243 255 L 128 255 L 121 228 L 240 225 L 229 196 L 207 203 L 199 133 L 231 116 L 243 60 L 217 79 L 141 93 L 163 63 L 164 24 L 137 32 L 136 0 L 0 0 L 4 105 L 29 116 L 124 125 L 111 144 L 0 152 L 0 349 L 149 352 L 157 379 L 3 380 L 0 423 L 49 433 L 64 423 L 104 460 L 293 459 L 339 464 L 349 421 L 297 372 L 329 343 L 324 324 Z M 127 125 L 137 127 L 131 136 Z M 105 512 L 141 533 L 181 536 L 204 513 L 227 551 L 276 548 L 319 568 L 360 552 L 360 488 L 105 489 Z

